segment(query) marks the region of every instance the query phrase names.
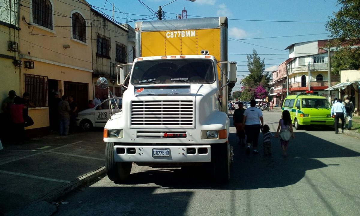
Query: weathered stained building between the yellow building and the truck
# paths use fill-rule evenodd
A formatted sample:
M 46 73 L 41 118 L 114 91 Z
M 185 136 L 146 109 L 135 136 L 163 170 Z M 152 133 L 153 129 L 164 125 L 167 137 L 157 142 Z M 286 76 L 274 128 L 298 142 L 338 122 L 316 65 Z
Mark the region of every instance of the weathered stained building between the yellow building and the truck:
M 121 96 L 122 90 L 116 85 L 116 66 L 134 60 L 134 29 L 127 24 L 117 24 L 94 9 L 91 9 L 91 23 L 94 95 L 99 94 L 102 98 L 107 94 L 107 89 L 96 86 L 97 79 L 103 76 L 108 79 L 112 93 Z

